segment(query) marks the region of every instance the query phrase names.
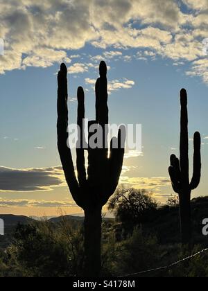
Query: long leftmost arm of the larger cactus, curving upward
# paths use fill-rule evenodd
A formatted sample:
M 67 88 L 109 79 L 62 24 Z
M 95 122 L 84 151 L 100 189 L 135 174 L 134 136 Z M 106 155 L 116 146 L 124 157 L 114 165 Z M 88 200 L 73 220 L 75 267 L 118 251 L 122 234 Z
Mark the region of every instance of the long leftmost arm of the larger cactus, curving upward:
M 58 73 L 58 151 L 62 161 L 64 175 L 69 186 L 69 190 L 73 199 L 79 205 L 79 185 L 76 179 L 73 160 L 71 157 L 71 150 L 67 146 L 67 127 L 68 127 L 68 107 L 67 107 L 68 93 L 67 93 L 67 67 L 61 64 L 60 72 Z

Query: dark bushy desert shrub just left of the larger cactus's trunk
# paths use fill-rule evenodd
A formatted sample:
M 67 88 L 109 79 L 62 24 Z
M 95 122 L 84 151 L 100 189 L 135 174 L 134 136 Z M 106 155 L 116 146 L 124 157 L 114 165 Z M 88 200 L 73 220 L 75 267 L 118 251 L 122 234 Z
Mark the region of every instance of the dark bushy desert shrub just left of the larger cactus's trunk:
M 29 276 L 77 276 L 82 270 L 82 229 L 75 231 L 69 221 L 19 224 L 12 249 Z

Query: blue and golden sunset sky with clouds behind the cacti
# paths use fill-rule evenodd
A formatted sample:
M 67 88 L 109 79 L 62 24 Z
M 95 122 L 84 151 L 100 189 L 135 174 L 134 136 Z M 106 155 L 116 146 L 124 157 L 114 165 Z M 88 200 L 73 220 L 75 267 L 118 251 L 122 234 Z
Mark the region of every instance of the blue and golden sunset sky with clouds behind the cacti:
M 125 153 L 120 184 L 145 188 L 160 203 L 174 195 L 169 157 L 179 155 L 179 94 L 187 89 L 190 177 L 193 134 L 202 135 L 202 179 L 192 197 L 208 195 L 207 19 L 207 0 L 0 0 L 0 213 L 82 212 L 56 145 L 61 62 L 75 123 L 79 86 L 87 118 L 95 117 L 94 82 L 105 60 L 110 123 L 142 125 L 142 154 Z

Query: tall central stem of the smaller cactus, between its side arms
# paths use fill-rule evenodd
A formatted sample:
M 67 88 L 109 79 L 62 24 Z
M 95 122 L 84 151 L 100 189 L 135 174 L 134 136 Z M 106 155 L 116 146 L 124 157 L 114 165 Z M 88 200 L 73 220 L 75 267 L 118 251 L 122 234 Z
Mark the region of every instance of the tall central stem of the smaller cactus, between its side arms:
M 180 169 L 184 186 L 189 184 L 189 133 L 188 133 L 188 110 L 187 91 L 180 91 L 181 121 L 180 121 Z

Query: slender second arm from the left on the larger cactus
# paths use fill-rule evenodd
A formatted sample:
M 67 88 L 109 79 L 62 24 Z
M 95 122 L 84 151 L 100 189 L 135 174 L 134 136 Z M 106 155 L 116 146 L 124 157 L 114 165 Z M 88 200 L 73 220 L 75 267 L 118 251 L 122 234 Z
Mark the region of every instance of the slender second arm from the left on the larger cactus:
M 76 148 L 76 167 L 78 172 L 78 182 L 80 186 L 85 185 L 87 181 L 86 169 L 85 169 L 85 150 L 83 145 L 85 143 L 85 134 L 83 132 L 83 119 L 85 118 L 85 93 L 82 87 L 78 88 L 78 116 L 77 125 L 78 130 L 78 146 Z

